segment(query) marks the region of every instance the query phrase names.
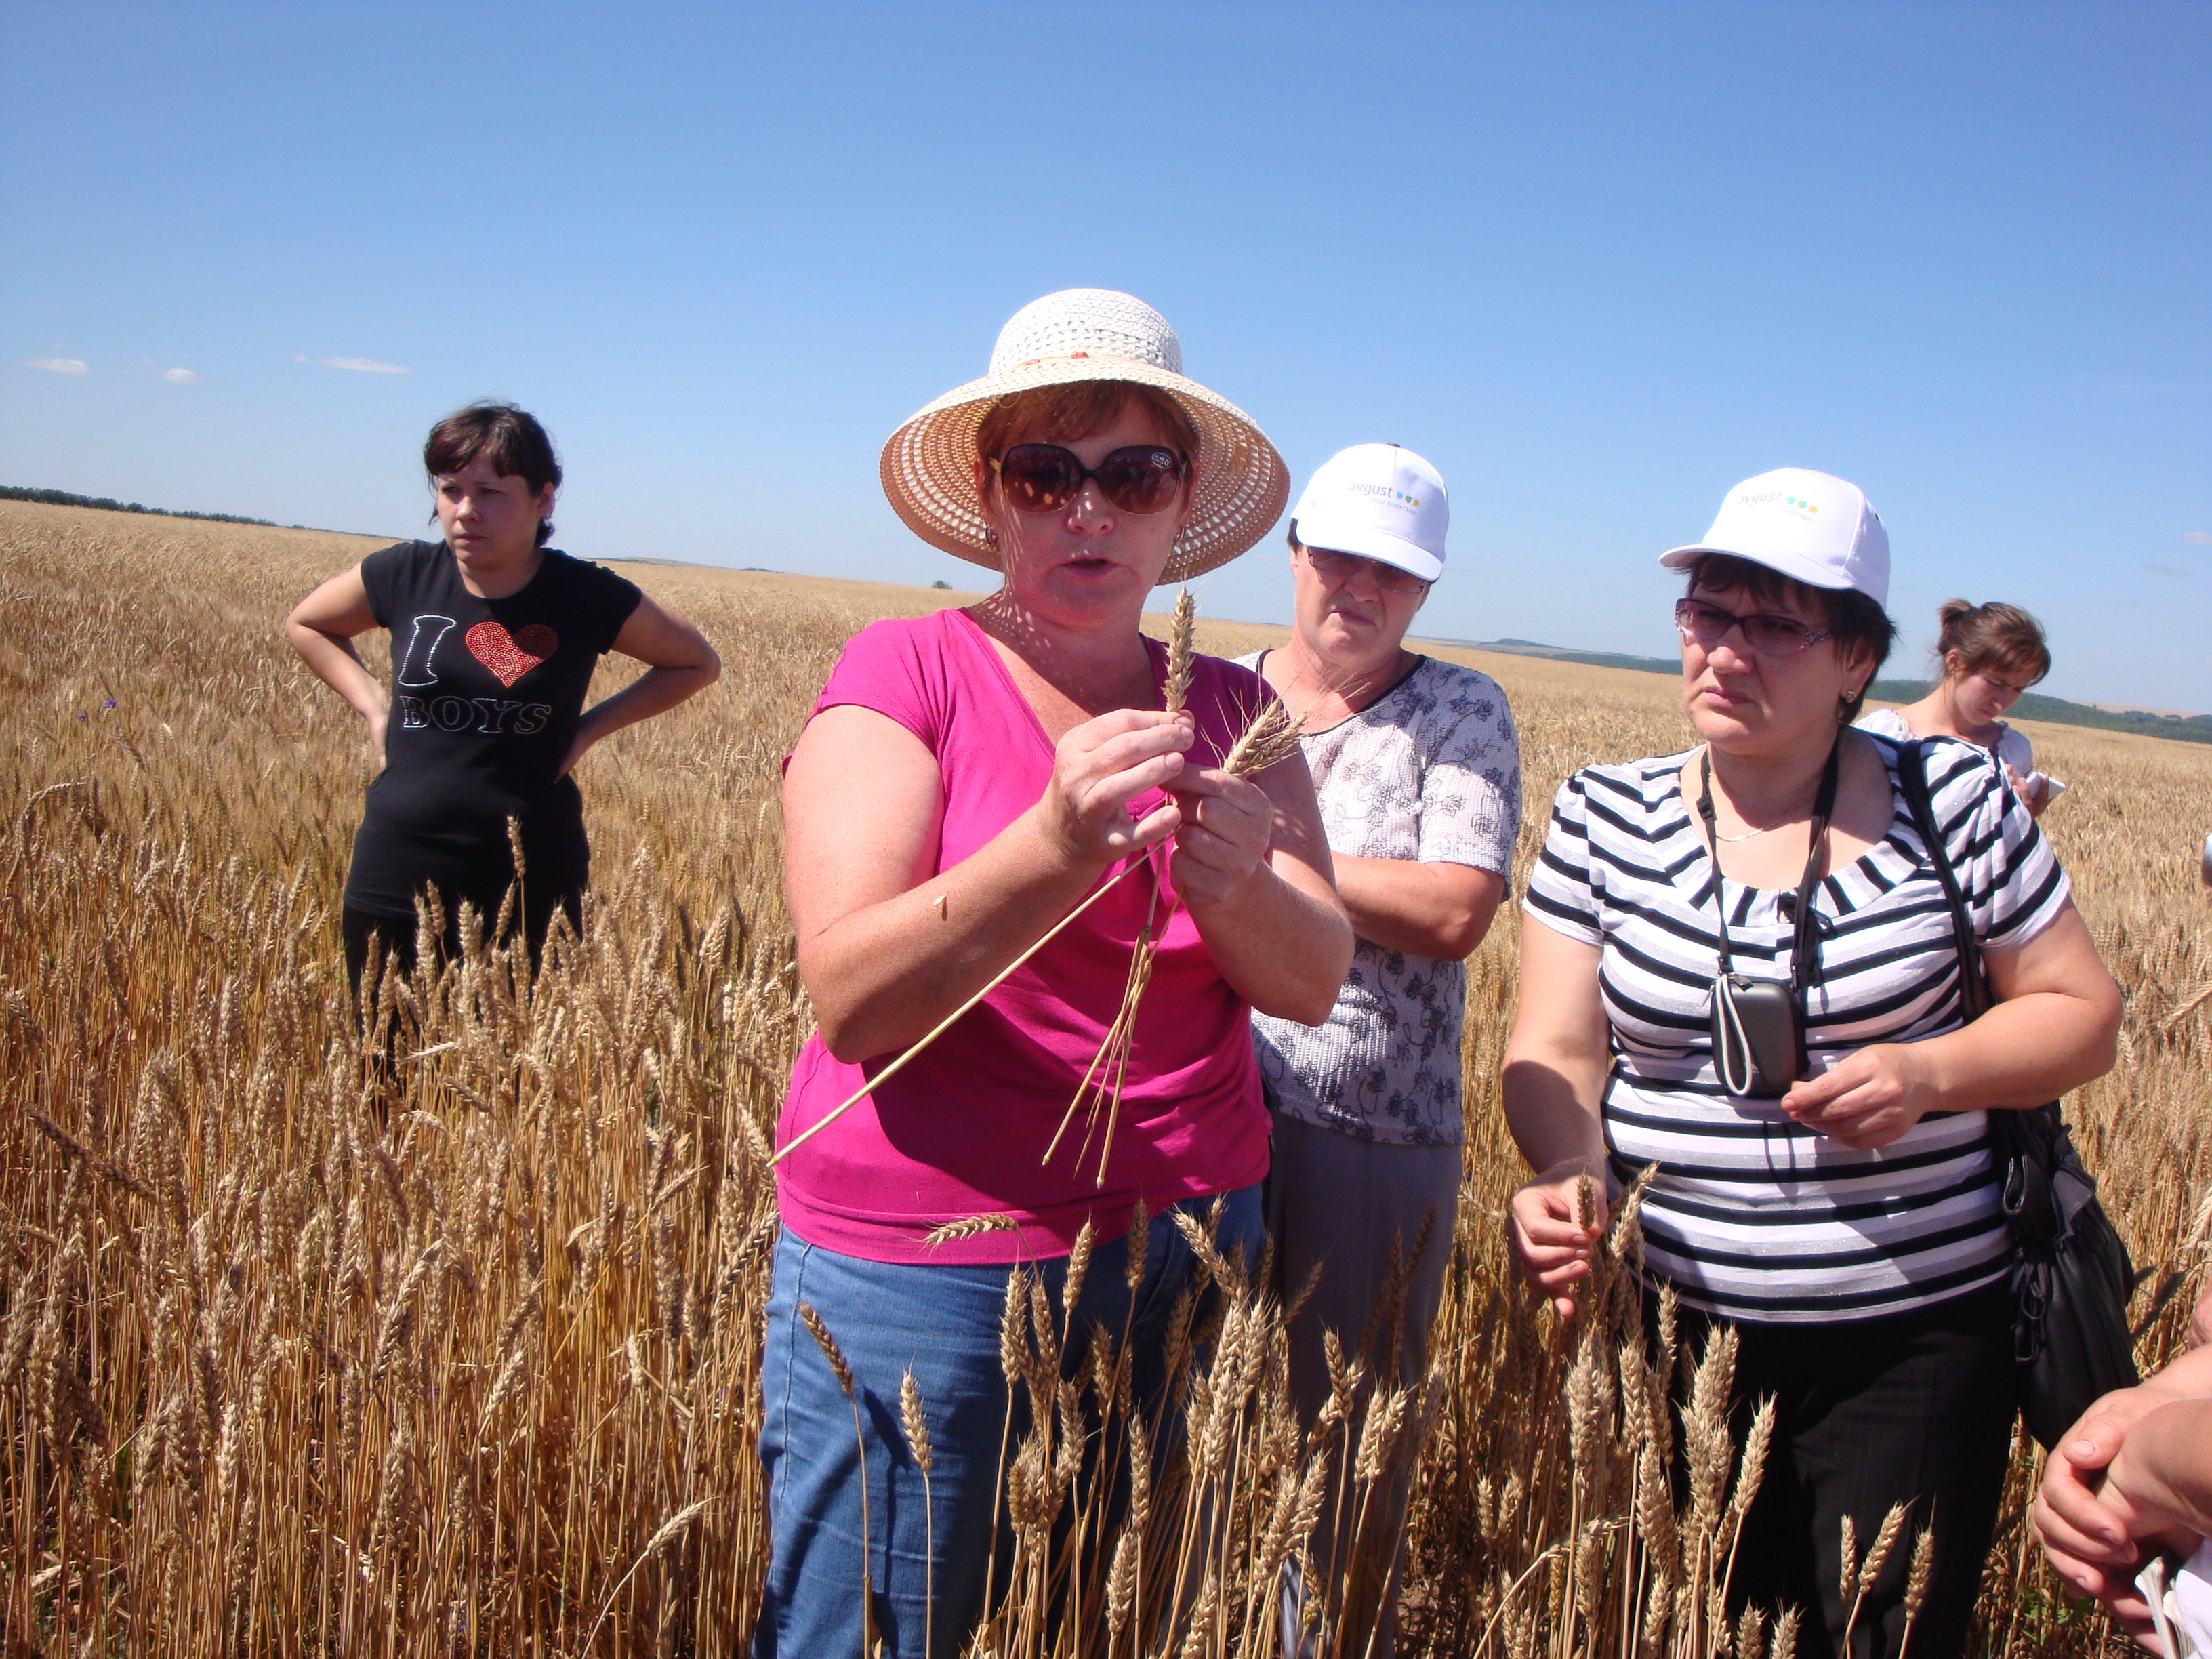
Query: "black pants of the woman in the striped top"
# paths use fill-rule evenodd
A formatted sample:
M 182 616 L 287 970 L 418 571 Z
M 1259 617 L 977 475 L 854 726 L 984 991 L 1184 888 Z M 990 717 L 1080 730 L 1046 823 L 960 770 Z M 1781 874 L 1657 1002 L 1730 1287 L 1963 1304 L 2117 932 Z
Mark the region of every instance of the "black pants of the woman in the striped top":
M 1683 1310 L 1681 1336 L 1703 1354 L 1719 1321 Z M 1840 1593 L 1843 1517 L 1858 1555 L 1891 1504 L 1911 1502 L 1896 1548 L 1858 1606 L 1849 1659 L 1896 1655 L 1913 1540 L 1936 1526 L 1927 1601 L 1911 1659 L 1966 1650 L 1982 1562 L 1997 1524 L 2020 1378 L 2004 1283 L 1933 1307 L 1834 1325 L 1736 1321 L 1736 1442 L 1774 1396 L 1774 1449 L 1743 1522 L 1730 1608 L 1794 1604 L 1798 1655 L 1843 1655 L 1851 1601 Z

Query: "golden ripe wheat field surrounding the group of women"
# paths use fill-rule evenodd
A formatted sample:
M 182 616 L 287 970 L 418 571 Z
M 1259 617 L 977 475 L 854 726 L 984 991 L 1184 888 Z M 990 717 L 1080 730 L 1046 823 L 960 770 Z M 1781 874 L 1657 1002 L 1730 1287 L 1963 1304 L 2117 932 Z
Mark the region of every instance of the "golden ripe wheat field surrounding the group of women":
M 535 982 L 482 951 L 387 980 L 363 1037 L 336 925 L 369 757 L 279 622 L 374 546 L 0 502 L 9 1652 L 726 1655 L 750 1632 L 765 1133 L 807 1031 L 776 763 L 849 633 L 962 595 L 624 566 L 726 675 L 584 761 L 584 938 Z M 1199 624 L 1223 655 L 1276 637 Z M 1568 770 L 1683 743 L 1661 677 L 1440 655 L 1513 699 L 1524 867 Z M 2028 730 L 2073 785 L 2044 825 L 2128 993 L 2121 1062 L 2070 1115 L 2148 1270 L 2154 1365 L 2199 1290 L 2212 1190 L 2212 750 Z M 1009 1307 L 1037 1425 L 1009 1464 L 1015 1590 L 978 1650 L 1274 1652 L 1283 1564 L 1340 1577 L 1303 1548 L 1323 1506 L 1358 1548 L 1411 1464 L 1407 1652 L 1792 1652 L 1783 1610 L 1714 1613 L 1759 1433 L 1728 1438 L 1725 1352 L 1646 1352 L 1632 1217 L 1597 1318 L 1559 1327 L 1513 1281 L 1495 1071 L 1515 936 L 1506 918 L 1469 967 L 1467 1186 L 1433 1245 L 1451 1267 L 1429 1378 L 1376 1387 L 1347 1354 L 1301 1436 L 1279 1310 L 1201 1237 L 1221 1296 L 1179 1360 L 1190 1431 L 1117 1522 L 1082 1471 L 1146 1425 L 1117 1418 L 1113 1343 L 1079 1352 L 1037 1290 Z M 378 1031 L 405 1033 L 396 1071 Z M 927 1418 L 911 1402 L 909 1440 Z M 2126 1650 L 2059 1599 L 2020 1522 L 2033 1478 L 2022 1444 L 1975 1650 Z M 1354 1593 L 1325 1650 L 1360 1652 L 1367 1613 Z

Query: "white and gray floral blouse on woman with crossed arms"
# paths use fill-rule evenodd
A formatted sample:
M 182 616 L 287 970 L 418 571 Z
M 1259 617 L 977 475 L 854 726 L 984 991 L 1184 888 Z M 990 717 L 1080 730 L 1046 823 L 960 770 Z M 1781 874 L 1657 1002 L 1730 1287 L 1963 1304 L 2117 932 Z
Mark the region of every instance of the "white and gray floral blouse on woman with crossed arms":
M 1259 668 L 1261 657 L 1241 657 Z M 1340 726 L 1301 739 L 1329 852 L 1509 876 L 1520 741 L 1498 681 L 1422 657 Z M 1363 1141 L 1458 1146 L 1467 969 L 1358 940 L 1323 1026 L 1252 1018 L 1261 1075 L 1301 1124 Z

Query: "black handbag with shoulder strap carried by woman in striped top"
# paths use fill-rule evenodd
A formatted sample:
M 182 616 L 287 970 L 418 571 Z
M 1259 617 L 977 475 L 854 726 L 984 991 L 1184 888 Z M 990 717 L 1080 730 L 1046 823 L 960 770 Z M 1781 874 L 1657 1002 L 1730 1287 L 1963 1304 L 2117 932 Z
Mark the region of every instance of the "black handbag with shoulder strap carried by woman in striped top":
M 1929 801 L 1929 743 L 1911 743 L 1898 765 L 1905 805 L 1927 843 L 1958 936 L 1960 1013 L 1980 1020 L 1993 1004 L 1966 900 L 1936 827 Z M 2135 1387 L 2128 1296 L 2135 1263 L 2112 1219 L 2097 1203 L 2097 1181 L 2081 1164 L 2059 1104 L 1989 1113 L 1989 1146 L 2013 1230 L 2013 1358 L 2020 1360 L 2020 1413 L 2051 1451 L 2088 1407 L 2112 1389 Z

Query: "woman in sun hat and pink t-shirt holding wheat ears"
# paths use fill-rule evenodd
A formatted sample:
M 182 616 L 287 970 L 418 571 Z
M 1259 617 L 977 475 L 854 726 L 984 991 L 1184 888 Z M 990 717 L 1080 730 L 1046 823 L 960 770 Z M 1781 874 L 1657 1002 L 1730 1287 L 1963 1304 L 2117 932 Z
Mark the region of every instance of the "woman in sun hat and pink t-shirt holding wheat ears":
M 1137 630 L 1155 584 L 1243 553 L 1285 495 L 1259 427 L 1181 374 L 1166 319 L 1104 290 L 1035 301 L 982 380 L 891 434 L 883 482 L 925 542 L 1004 582 L 852 639 L 785 772 L 818 1031 L 779 1126 L 754 1650 L 807 1659 L 964 1648 L 1024 1409 L 1000 1356 L 1018 1270 L 1071 1303 L 1071 1367 L 1104 1323 L 1157 1400 L 1194 1283 L 1161 1212 L 1219 1201 L 1221 1248 L 1254 1245 L 1267 1113 L 1250 1015 L 1325 1018 L 1352 958 L 1303 759 L 1252 779 L 1221 765 L 1265 686 L 1199 657 L 1170 712 L 1168 653 Z M 1115 1128 L 1046 1157 L 1155 927 Z M 1128 1261 L 1139 1206 L 1152 1221 Z M 909 1387 L 927 1473 L 891 1427 Z

